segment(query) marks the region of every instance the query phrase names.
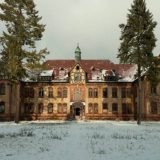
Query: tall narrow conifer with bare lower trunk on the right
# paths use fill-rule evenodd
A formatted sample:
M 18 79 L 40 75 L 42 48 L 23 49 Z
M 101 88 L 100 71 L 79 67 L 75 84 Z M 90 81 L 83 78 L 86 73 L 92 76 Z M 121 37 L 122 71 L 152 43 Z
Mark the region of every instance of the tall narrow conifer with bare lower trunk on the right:
M 137 124 L 141 124 L 141 76 L 155 64 L 152 51 L 156 45 L 154 35 L 156 25 L 152 14 L 146 8 L 145 0 L 134 0 L 127 15 L 127 23 L 119 25 L 121 44 L 117 57 L 121 63 L 137 65 Z

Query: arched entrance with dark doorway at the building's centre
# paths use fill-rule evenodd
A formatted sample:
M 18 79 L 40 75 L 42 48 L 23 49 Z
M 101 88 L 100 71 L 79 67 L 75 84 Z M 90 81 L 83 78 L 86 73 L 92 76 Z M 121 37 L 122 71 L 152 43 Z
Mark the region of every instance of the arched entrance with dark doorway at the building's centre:
M 84 104 L 82 102 L 74 102 L 71 104 L 71 119 L 81 120 L 84 119 Z

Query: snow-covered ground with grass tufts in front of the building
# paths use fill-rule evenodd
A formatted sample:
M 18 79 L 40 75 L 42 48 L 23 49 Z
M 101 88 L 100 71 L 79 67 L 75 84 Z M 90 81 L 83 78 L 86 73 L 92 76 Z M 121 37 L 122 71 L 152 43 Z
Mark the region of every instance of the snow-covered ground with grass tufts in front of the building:
M 0 123 L 0 160 L 160 160 L 160 122 Z

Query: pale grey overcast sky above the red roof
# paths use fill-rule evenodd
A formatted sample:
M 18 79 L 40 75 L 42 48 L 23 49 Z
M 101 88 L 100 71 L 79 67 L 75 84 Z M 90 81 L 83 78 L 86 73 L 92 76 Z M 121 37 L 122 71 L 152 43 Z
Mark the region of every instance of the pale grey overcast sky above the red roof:
M 82 59 L 110 59 L 118 62 L 120 23 L 133 0 L 35 0 L 42 22 L 46 24 L 39 47 L 47 47 L 47 59 L 73 59 L 77 43 Z M 160 0 L 146 0 L 147 8 L 158 22 L 155 29 L 160 53 Z

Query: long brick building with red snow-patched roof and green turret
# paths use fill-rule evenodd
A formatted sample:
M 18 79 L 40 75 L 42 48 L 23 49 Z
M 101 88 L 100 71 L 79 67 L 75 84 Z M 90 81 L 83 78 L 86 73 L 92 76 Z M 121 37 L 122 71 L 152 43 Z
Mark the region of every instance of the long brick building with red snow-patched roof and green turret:
M 48 60 L 36 78 L 20 82 L 11 94 L 9 81 L 0 80 L 0 120 L 135 120 L 136 67 L 109 60 Z M 142 119 L 160 120 L 160 84 L 142 81 Z

